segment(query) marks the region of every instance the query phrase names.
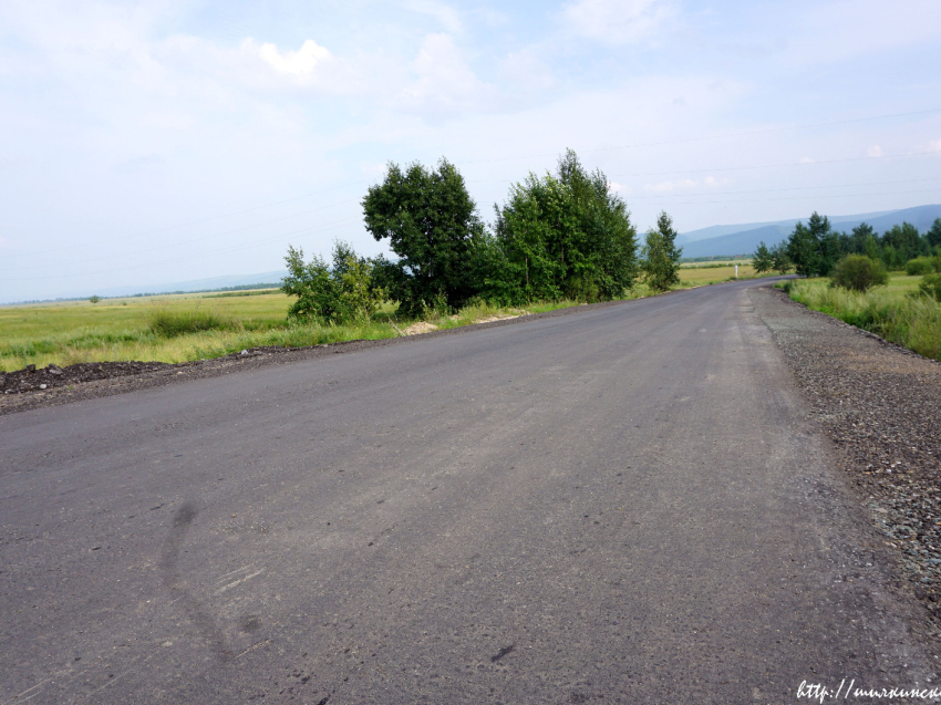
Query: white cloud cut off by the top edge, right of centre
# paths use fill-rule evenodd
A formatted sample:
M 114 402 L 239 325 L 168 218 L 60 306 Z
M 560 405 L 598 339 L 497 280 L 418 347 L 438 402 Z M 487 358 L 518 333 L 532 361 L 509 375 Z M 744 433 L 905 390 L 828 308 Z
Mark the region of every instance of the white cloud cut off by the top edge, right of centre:
M 578 34 L 612 44 L 650 35 L 672 14 L 664 0 L 576 0 L 565 10 Z

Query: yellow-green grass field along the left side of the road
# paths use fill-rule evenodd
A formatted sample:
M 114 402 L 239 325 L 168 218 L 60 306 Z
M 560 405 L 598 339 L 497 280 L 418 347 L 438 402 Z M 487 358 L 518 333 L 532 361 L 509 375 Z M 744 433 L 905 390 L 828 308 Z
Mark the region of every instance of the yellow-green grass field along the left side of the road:
M 680 288 L 726 281 L 733 267 L 684 268 Z M 751 278 L 751 267 L 738 268 Z M 651 296 L 638 284 L 627 297 Z M 386 304 L 372 321 L 345 324 L 290 324 L 291 299 L 275 290 L 168 294 L 90 301 L 0 307 L 0 370 L 29 364 L 65 366 L 77 362 L 141 360 L 187 362 L 218 357 L 262 345 L 319 345 L 344 340 L 395 338 L 412 321 L 393 318 Z M 538 313 L 577 305 L 577 301 L 537 302 L 520 310 L 482 304 L 456 317 L 431 317 L 438 328 L 467 325 L 482 319 Z M 177 330 L 179 324 L 183 328 Z M 199 330 L 199 329 L 203 330 Z

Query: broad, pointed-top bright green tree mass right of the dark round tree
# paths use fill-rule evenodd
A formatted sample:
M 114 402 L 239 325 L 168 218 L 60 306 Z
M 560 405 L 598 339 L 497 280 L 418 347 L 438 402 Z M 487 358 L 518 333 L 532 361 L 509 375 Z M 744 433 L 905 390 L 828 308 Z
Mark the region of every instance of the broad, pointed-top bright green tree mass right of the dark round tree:
M 637 231 L 627 204 L 571 149 L 555 175 L 530 174 L 495 210 L 494 238 L 478 249 L 485 298 L 598 301 L 633 284 Z

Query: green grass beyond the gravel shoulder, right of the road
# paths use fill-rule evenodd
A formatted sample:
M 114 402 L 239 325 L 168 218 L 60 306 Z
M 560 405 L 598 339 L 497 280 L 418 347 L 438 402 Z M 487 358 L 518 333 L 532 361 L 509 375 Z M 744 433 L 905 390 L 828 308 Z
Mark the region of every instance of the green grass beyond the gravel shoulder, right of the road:
M 866 293 L 829 286 L 829 279 L 793 281 L 790 298 L 816 311 L 871 331 L 920 355 L 941 360 L 941 303 L 918 296 L 921 277 L 891 272 L 889 283 Z

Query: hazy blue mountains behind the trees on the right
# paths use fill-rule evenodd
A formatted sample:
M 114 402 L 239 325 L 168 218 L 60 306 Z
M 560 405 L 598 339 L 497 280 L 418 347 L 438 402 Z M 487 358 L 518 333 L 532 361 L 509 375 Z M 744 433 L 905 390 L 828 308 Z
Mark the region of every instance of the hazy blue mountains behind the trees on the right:
M 941 205 L 835 216 L 829 220 L 834 230 L 849 232 L 860 222 L 868 222 L 877 232 L 882 234 L 902 222 L 910 222 L 919 232 L 924 232 L 931 228 L 935 218 L 941 218 Z M 794 226 L 802 220 L 806 221 L 807 218 L 712 226 L 683 232 L 676 238 L 676 243 L 682 245 L 683 257 L 751 255 L 762 241 L 772 247 L 786 240 Z

